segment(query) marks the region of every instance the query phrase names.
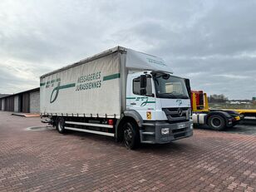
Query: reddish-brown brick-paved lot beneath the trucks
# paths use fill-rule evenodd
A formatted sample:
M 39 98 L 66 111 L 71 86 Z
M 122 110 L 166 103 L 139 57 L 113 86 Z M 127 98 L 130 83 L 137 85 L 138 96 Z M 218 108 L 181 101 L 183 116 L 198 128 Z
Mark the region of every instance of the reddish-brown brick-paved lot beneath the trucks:
M 196 129 L 126 150 L 101 135 L 28 126 L 42 124 L 0 112 L 0 191 L 256 191 L 256 135 L 243 131 Z

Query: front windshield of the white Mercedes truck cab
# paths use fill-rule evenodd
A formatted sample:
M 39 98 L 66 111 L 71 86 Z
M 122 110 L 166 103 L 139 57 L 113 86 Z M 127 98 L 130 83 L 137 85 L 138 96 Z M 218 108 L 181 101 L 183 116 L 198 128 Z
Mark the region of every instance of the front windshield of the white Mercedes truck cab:
M 165 73 L 155 73 L 155 93 L 160 98 L 189 99 L 185 80 Z

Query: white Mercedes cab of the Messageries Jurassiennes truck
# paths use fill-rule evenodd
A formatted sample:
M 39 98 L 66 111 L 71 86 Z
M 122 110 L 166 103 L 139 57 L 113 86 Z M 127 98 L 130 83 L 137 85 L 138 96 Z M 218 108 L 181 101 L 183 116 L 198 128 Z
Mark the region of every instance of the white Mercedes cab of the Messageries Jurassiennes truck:
M 126 112 L 142 119 L 141 143 L 163 144 L 193 135 L 189 92 L 185 79 L 171 73 L 129 72 Z

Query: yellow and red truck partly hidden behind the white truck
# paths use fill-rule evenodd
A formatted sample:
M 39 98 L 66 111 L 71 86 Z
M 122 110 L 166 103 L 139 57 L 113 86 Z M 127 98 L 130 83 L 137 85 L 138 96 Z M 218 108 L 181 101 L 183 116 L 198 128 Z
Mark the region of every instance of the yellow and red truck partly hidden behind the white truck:
M 191 91 L 191 106 L 194 126 L 209 126 L 212 130 L 224 130 L 244 119 L 243 114 L 238 111 L 210 109 L 204 91 Z

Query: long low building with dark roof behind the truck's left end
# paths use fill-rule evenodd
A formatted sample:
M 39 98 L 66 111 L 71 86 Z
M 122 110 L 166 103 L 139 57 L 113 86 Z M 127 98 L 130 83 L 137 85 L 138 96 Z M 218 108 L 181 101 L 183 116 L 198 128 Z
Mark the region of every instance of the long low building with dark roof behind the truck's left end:
M 39 113 L 40 88 L 22 91 L 13 95 L 0 98 L 1 111 L 13 111 L 22 113 Z

